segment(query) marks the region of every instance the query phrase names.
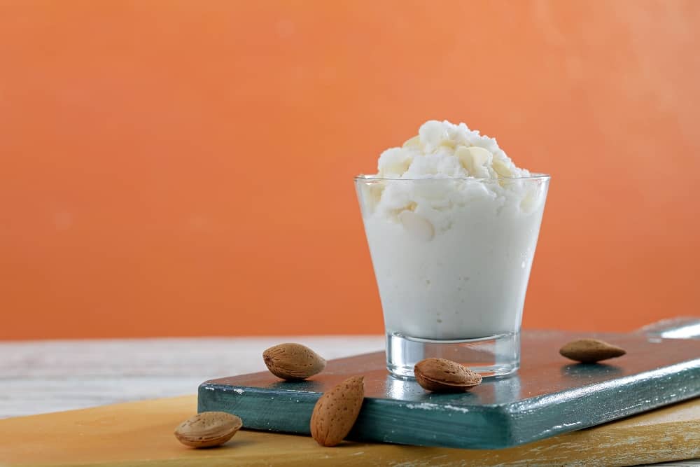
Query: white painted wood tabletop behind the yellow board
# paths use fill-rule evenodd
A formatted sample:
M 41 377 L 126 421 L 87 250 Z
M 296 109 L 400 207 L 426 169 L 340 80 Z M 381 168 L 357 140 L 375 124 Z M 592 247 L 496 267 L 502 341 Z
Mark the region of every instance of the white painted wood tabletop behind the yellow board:
M 0 418 L 195 393 L 206 379 L 265 370 L 262 351 L 280 342 L 329 360 L 384 348 L 374 335 L 0 342 Z

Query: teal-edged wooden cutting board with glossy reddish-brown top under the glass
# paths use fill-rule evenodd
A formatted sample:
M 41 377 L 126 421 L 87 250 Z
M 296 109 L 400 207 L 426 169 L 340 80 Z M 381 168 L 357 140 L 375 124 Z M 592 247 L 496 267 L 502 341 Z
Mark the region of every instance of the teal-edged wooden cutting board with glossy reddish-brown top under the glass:
M 388 375 L 384 352 L 364 354 L 330 361 L 305 382 L 282 382 L 269 372 L 213 379 L 200 385 L 198 409 L 238 414 L 246 428 L 308 435 L 321 393 L 365 375 L 365 402 L 348 439 L 512 447 L 699 396 L 700 340 L 660 335 L 525 331 L 517 375 L 484 379 L 461 394 L 423 391 Z M 627 354 L 592 365 L 561 357 L 561 345 L 578 337 L 597 337 Z

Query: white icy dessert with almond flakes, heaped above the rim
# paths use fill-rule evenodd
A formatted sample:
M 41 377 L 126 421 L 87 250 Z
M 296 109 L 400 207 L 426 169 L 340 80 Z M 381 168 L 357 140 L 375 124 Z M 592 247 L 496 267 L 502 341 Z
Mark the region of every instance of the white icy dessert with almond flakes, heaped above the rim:
M 548 179 L 463 123 L 384 151 L 357 186 L 387 333 L 517 333 Z

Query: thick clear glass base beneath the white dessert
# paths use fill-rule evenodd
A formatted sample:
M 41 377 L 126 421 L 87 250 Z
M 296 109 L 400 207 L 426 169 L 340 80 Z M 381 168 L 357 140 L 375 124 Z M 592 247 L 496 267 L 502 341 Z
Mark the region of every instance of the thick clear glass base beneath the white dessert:
M 520 333 L 463 340 L 433 340 L 386 334 L 386 368 L 395 377 L 414 378 L 413 367 L 423 358 L 447 358 L 482 377 L 510 375 L 520 366 Z

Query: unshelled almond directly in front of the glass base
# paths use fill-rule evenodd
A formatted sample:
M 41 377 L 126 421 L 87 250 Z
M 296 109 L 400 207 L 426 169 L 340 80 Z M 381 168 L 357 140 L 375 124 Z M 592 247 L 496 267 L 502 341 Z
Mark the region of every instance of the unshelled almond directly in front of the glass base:
M 416 381 L 433 392 L 469 391 L 482 382 L 479 373 L 445 358 L 426 358 L 413 368 Z

